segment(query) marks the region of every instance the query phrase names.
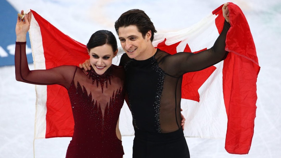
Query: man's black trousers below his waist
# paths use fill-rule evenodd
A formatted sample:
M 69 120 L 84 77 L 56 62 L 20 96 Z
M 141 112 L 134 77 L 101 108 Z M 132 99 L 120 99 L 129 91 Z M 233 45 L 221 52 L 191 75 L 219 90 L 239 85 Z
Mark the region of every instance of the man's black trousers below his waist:
M 182 129 L 148 133 L 135 129 L 133 158 L 190 158 Z

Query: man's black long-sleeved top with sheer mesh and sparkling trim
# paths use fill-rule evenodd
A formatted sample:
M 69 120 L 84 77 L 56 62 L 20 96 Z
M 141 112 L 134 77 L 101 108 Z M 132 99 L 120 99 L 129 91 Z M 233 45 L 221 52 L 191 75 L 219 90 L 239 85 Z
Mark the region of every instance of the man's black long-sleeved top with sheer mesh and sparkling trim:
M 170 55 L 157 49 L 155 55 L 146 60 L 122 55 L 119 65 L 125 68 L 135 128 L 153 133 L 169 133 L 181 128 L 182 76 L 205 69 L 226 57 L 225 39 L 229 28 L 229 23 L 225 22 L 214 46 L 196 54 Z

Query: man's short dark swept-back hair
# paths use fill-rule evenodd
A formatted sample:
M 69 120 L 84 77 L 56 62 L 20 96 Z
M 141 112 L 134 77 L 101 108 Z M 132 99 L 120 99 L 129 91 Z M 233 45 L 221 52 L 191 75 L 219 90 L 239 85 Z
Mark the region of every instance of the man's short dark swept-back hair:
M 114 25 L 117 35 L 119 36 L 119 27 L 127 27 L 129 25 L 137 26 L 143 38 L 146 33 L 151 30 L 151 42 L 154 38 L 154 33 L 157 32 L 150 18 L 146 15 L 146 13 L 144 13 L 144 11 L 139 9 L 128 10 L 118 18 Z

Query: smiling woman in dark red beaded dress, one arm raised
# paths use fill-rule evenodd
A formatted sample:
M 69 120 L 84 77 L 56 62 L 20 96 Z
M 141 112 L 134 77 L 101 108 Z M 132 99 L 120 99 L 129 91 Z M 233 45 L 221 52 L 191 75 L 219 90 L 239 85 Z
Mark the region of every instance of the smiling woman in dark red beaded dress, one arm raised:
M 23 11 L 22 11 L 23 13 Z M 87 44 L 92 70 L 63 65 L 48 70 L 28 68 L 26 33 L 31 12 L 16 24 L 16 80 L 31 84 L 59 84 L 68 90 L 74 133 L 66 157 L 116 157 L 124 154 L 118 118 L 124 103 L 124 70 L 112 65 L 117 41 L 110 31 L 95 32 Z M 116 134 L 117 133 L 117 134 Z M 118 135 L 118 137 L 117 137 Z

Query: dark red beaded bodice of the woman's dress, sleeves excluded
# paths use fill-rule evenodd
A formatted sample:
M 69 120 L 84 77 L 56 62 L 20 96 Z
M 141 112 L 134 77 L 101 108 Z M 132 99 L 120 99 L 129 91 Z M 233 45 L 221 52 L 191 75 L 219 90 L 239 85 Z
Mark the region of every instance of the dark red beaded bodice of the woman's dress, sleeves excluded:
M 98 75 L 93 69 L 87 74 L 77 69 L 68 89 L 74 117 L 74 133 L 69 147 L 85 145 L 100 152 L 107 148 L 106 145 L 112 151 L 112 148 L 118 148 L 116 143 L 121 144 L 116 136 L 116 125 L 124 103 L 123 71 L 123 68 L 111 66 L 103 75 Z

